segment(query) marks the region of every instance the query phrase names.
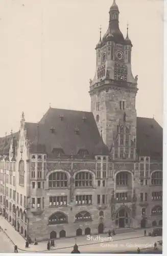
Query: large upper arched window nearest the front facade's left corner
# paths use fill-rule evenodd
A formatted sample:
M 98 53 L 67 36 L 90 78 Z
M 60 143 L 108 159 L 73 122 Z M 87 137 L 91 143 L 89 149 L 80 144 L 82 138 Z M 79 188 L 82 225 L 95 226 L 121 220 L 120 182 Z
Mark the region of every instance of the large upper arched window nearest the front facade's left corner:
M 55 172 L 49 176 L 49 188 L 67 187 L 67 175 L 63 172 Z

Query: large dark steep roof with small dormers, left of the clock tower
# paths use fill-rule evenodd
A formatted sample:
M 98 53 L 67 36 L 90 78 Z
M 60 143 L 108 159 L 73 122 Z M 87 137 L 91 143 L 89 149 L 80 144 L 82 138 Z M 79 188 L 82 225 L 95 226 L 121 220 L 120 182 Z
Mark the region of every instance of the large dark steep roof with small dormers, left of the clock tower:
M 39 143 L 45 145 L 47 154 L 51 154 L 53 148 L 62 148 L 65 155 L 77 155 L 84 148 L 92 156 L 94 146 L 100 141 L 91 112 L 50 108 L 38 125 Z M 26 123 L 26 128 L 28 138 L 34 141 L 37 124 Z

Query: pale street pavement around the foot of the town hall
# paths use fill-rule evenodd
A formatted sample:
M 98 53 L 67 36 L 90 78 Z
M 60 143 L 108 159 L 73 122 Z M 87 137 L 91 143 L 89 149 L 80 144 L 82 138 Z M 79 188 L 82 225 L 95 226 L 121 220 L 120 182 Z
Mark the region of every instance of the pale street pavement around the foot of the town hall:
M 5 220 L 3 217 L 0 217 L 0 226 L 3 228 L 6 236 L 8 237 L 8 243 L 10 246 L 7 246 L 10 252 L 13 252 L 14 244 L 18 246 L 18 252 L 43 252 L 43 253 L 69 253 L 73 250 L 73 246 L 76 243 L 75 238 L 66 238 L 66 239 L 57 239 L 55 241 L 55 247 L 51 248 L 50 251 L 47 251 L 47 242 L 39 242 L 38 245 L 31 244 L 29 248 L 25 248 L 25 239 L 21 237 L 21 235 L 11 226 L 11 224 Z M 152 230 L 152 228 L 147 229 L 147 232 Z M 9 239 L 10 238 L 10 239 Z M 6 238 L 7 240 L 7 238 Z M 9 242 L 10 240 L 10 242 Z M 145 244 L 151 245 L 158 240 L 161 240 L 161 237 L 152 238 L 152 237 L 144 237 L 144 230 L 139 229 L 134 232 L 123 233 L 123 234 L 116 234 L 112 238 L 113 241 L 107 238 L 107 234 L 93 235 L 90 238 L 87 236 L 77 237 L 77 245 L 79 246 L 79 250 L 84 252 L 111 252 L 113 251 L 129 251 L 130 250 L 137 250 L 136 244 L 144 245 Z M 154 241 L 155 240 L 155 241 Z M 7 243 L 7 242 L 6 242 Z M 13 243 L 13 245 L 12 245 Z M 129 245 L 128 245 L 129 243 Z M 131 246 L 134 245 L 134 246 Z M 139 246 L 138 246 L 139 247 Z M 3 247 L 0 247 L 1 252 L 6 252 Z M 141 246 L 140 246 L 141 248 Z M 113 251 L 113 252 L 114 252 Z

